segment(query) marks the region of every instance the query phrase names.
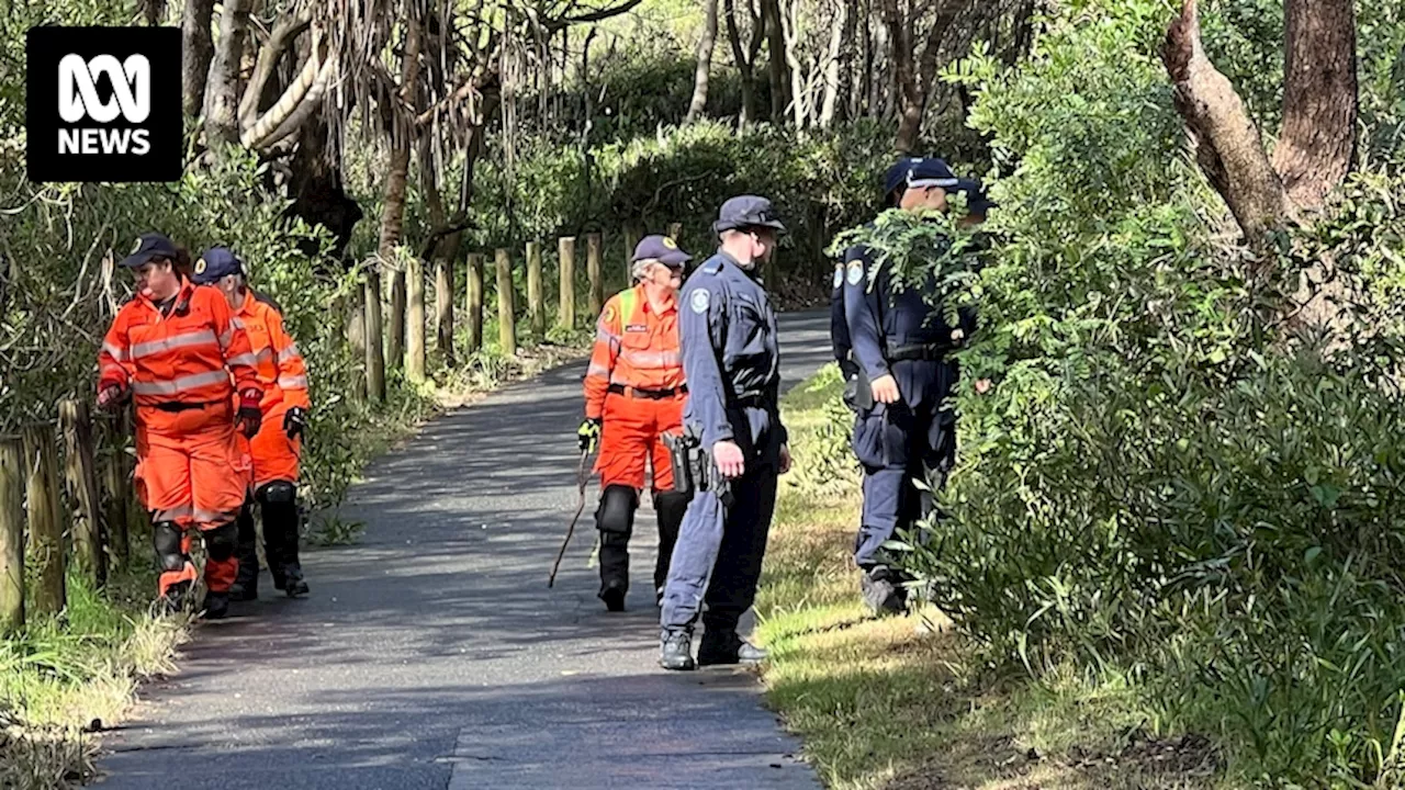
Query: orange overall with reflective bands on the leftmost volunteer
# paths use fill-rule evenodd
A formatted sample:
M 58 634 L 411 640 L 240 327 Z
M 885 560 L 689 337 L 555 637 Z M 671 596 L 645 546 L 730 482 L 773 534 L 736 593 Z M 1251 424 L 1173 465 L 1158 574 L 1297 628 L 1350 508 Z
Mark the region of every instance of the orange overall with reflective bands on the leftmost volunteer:
M 98 391 L 131 389 L 136 403 L 136 493 L 155 523 L 181 533 L 184 564 L 163 566 L 163 596 L 195 578 L 190 529 L 233 524 L 244 502 L 249 457 L 235 440 L 232 395 L 261 391 L 254 364 L 223 294 L 188 281 L 169 315 L 140 295 L 126 302 L 103 340 Z M 209 559 L 209 590 L 228 590 L 236 571 L 232 557 Z

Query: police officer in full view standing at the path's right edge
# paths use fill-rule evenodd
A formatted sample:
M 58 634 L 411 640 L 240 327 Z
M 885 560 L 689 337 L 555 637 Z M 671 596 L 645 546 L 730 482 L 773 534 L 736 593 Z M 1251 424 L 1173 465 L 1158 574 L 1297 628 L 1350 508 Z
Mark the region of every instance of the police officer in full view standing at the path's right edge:
M 679 297 L 684 430 L 707 458 L 673 550 L 660 613 L 665 669 L 754 663 L 766 651 L 736 634 L 756 597 L 777 475 L 790 471 L 780 422 L 776 311 L 757 281 L 785 226 L 771 202 L 728 200 L 712 225 L 721 246 Z M 707 611 L 702 613 L 702 604 Z M 693 627 L 702 642 L 693 659 Z

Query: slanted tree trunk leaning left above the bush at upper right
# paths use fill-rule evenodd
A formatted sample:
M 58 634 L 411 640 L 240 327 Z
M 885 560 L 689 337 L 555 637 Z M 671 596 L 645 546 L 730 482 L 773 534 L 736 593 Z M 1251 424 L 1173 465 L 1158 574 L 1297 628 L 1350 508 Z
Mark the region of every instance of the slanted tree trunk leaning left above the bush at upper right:
M 1176 111 L 1196 146 L 1196 160 L 1229 204 L 1245 236 L 1262 243 L 1288 215 L 1287 195 L 1243 101 L 1205 58 L 1196 0 L 1184 0 L 1180 17 L 1166 31 L 1161 56 L 1170 75 Z

